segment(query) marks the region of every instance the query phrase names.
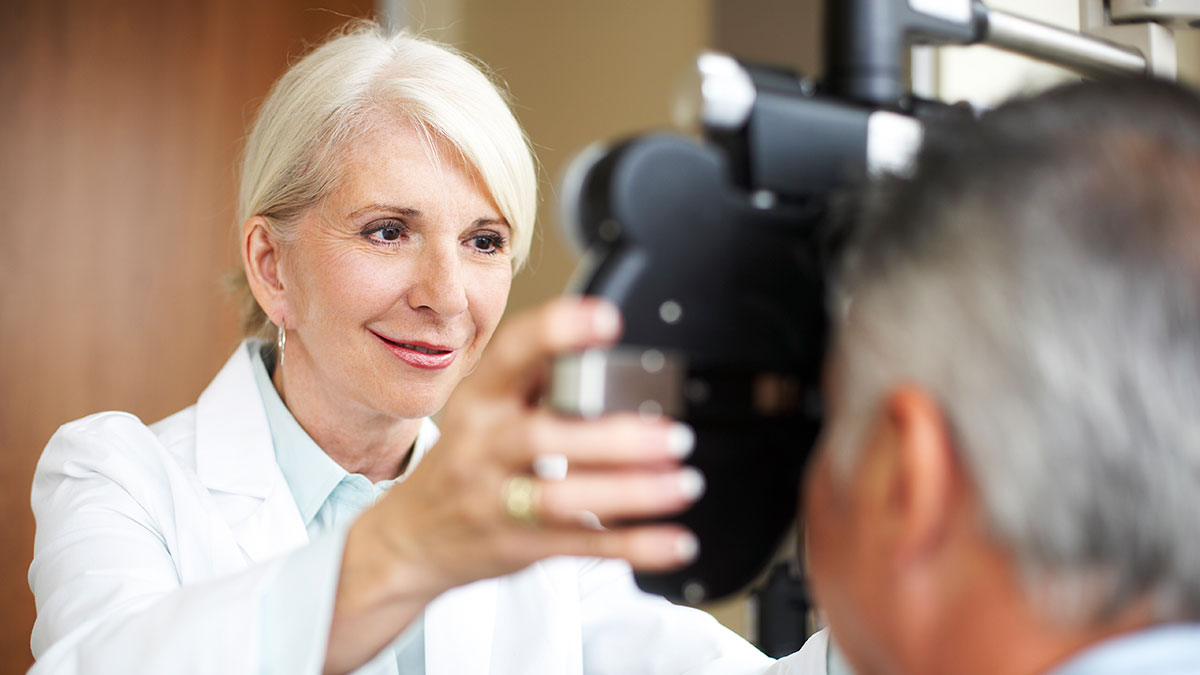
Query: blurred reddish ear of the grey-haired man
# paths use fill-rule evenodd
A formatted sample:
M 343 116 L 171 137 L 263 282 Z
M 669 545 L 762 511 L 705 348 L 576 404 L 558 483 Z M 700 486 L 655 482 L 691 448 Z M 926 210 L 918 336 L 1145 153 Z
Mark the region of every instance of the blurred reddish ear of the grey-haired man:
M 965 476 L 953 436 L 937 401 L 924 389 L 901 386 L 884 406 L 894 458 L 889 462 L 887 508 L 898 561 L 910 562 L 944 542 L 961 502 Z

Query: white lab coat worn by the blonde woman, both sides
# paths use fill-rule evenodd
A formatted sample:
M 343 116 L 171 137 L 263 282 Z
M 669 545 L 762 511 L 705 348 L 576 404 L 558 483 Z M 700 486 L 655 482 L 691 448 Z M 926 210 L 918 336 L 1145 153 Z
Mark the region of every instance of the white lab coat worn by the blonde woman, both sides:
M 64 425 L 32 507 L 34 673 L 257 673 L 263 590 L 311 549 L 245 345 L 157 424 L 106 412 Z M 295 649 L 319 668 L 324 643 Z M 426 609 L 425 649 L 430 675 L 770 668 L 708 615 L 637 591 L 622 563 L 578 558 L 444 593 Z

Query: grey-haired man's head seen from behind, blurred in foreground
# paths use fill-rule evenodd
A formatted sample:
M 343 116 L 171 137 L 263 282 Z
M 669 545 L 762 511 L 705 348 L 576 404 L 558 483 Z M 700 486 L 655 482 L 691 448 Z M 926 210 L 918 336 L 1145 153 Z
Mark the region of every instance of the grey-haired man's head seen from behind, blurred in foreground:
M 1072 85 L 931 133 L 834 306 L 805 515 L 859 669 L 1200 617 L 1200 100 Z

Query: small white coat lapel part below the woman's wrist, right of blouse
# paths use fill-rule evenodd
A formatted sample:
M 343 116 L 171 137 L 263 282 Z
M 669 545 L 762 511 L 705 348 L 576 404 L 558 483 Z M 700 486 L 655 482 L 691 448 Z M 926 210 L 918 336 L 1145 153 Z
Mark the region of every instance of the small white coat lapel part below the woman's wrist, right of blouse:
M 496 579 L 485 579 L 451 589 L 426 608 L 427 675 L 490 671 L 498 584 Z

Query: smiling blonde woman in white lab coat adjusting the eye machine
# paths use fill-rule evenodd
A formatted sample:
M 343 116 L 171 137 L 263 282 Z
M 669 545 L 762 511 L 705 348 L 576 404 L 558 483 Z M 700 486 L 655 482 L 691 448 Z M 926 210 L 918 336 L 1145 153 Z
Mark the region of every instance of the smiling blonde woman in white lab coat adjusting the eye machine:
M 685 428 L 535 405 L 553 354 L 617 338 L 613 307 L 515 318 L 460 386 L 535 210 L 523 133 L 474 66 L 370 24 L 335 37 L 264 103 L 239 204 L 250 325 L 274 344 L 154 425 L 108 412 L 50 440 L 35 671 L 768 668 L 600 560 L 690 560 L 678 527 L 593 525 L 702 491 Z

